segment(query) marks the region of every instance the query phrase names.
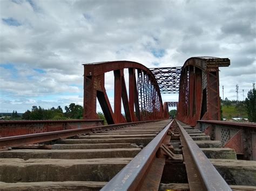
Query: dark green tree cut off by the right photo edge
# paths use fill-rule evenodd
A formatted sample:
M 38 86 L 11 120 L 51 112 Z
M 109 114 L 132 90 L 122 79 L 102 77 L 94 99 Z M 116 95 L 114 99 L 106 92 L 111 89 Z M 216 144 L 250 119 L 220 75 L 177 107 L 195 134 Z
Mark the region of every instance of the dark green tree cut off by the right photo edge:
M 248 91 L 247 98 L 245 99 L 248 119 L 250 122 L 256 122 L 256 89 Z

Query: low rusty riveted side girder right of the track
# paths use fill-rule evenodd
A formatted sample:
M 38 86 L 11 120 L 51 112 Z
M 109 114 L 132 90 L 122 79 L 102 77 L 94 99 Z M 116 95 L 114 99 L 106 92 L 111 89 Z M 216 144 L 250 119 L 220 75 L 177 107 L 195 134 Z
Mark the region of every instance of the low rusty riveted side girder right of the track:
M 239 159 L 256 160 L 256 124 L 199 120 L 196 129 L 220 140 L 223 147 L 233 148 Z

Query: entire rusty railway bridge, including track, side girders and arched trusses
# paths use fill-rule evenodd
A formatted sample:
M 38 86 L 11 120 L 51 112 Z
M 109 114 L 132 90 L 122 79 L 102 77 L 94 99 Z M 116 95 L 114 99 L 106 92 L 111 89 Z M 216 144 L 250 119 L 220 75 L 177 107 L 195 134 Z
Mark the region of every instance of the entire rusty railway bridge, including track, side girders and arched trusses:
M 256 125 L 220 121 L 229 65 L 84 64 L 83 120 L 0 122 L 0 190 L 256 190 Z

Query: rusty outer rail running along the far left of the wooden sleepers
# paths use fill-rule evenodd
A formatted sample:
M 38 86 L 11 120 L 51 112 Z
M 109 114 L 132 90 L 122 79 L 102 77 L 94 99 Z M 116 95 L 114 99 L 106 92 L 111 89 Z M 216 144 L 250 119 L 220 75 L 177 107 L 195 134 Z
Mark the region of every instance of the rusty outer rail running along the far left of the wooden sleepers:
M 50 140 L 73 137 L 79 134 L 89 133 L 89 132 L 98 131 L 98 130 L 120 128 L 123 126 L 131 126 L 135 124 L 154 122 L 154 121 L 159 121 L 159 120 L 120 123 L 120 124 L 113 124 L 113 125 L 100 125 L 100 126 L 92 126 L 88 128 L 81 128 L 81 129 L 70 129 L 70 130 L 63 130 L 63 131 L 52 131 L 52 132 L 44 132 L 44 133 L 33 133 L 33 134 L 21 135 L 21 136 L 3 137 L 3 138 L 0 138 L 0 151 L 13 146 L 23 146 L 23 145 L 34 144 L 34 143 L 42 143 Z

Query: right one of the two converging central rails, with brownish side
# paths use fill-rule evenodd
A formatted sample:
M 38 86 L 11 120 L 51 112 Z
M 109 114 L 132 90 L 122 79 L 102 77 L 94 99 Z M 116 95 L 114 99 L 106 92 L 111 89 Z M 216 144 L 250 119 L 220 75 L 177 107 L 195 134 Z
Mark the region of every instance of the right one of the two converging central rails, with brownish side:
M 186 130 L 176 122 L 190 190 L 232 190 Z

